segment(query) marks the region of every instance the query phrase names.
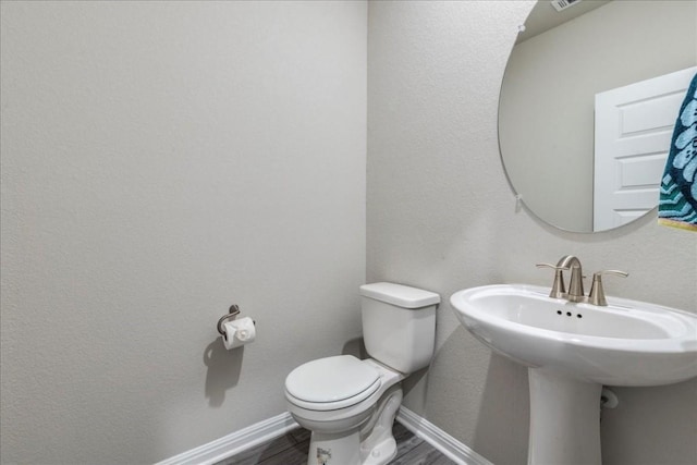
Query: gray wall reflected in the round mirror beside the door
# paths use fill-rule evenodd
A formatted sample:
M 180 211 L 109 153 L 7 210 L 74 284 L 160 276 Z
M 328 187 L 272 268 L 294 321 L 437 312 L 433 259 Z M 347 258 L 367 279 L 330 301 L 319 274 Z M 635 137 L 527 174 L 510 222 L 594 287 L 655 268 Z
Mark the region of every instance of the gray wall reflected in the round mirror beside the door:
M 595 96 L 697 64 L 696 11 L 695 1 L 611 1 L 513 49 L 501 150 L 536 215 L 592 231 Z

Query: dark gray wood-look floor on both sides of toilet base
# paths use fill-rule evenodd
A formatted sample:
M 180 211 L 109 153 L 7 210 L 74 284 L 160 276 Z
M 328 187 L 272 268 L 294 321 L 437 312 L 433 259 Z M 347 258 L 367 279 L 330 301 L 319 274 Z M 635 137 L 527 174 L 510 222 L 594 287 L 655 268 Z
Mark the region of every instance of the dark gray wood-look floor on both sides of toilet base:
M 396 440 L 396 457 L 390 465 L 455 465 L 428 442 L 414 436 L 399 423 L 392 429 Z M 309 431 L 295 429 L 272 441 L 244 451 L 216 465 L 305 465 L 309 449 Z M 341 465 L 341 464 L 337 464 Z

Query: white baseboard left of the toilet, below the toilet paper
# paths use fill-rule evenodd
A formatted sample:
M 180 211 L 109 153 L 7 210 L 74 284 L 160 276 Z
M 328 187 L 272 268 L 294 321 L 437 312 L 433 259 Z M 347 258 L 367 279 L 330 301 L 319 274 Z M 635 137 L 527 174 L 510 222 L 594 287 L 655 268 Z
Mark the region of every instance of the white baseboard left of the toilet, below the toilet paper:
M 295 428 L 299 428 L 299 425 L 295 423 L 291 414 L 285 412 L 196 449 L 158 462 L 156 465 L 212 465 L 247 449 L 281 437 Z

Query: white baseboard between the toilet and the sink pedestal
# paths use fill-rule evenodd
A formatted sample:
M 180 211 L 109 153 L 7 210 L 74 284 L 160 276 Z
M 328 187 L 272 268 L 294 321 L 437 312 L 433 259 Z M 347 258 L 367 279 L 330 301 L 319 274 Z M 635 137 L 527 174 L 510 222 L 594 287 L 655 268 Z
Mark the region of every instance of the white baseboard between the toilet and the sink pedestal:
M 460 465 L 493 465 L 467 445 L 404 406 L 400 407 L 396 420 Z

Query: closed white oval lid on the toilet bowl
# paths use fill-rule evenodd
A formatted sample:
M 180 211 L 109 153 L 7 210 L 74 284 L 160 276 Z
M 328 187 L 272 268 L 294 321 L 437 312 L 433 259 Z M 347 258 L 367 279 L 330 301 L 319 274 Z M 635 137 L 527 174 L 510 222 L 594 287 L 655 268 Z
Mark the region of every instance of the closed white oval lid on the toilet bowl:
M 285 390 L 293 397 L 309 403 L 342 404 L 335 408 L 358 403 L 379 387 L 377 368 L 352 355 L 308 362 L 291 371 L 285 379 Z M 354 402 L 341 402 L 348 399 Z

